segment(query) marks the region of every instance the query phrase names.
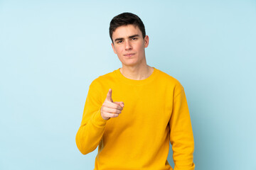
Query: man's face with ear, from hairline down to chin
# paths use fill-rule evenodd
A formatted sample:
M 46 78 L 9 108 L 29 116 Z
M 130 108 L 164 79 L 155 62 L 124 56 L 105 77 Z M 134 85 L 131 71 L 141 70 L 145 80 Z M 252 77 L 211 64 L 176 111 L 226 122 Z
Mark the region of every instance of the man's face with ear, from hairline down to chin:
M 149 45 L 149 36 L 142 37 L 138 26 L 120 26 L 112 34 L 112 48 L 123 67 L 146 64 L 145 47 Z

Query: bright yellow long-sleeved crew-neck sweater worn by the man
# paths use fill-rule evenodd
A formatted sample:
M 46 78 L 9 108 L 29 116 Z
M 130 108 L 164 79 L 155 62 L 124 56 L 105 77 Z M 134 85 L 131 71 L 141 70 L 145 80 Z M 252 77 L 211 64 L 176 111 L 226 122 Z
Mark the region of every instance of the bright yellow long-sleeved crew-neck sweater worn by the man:
M 104 120 L 100 108 L 107 92 L 123 101 L 117 118 Z M 82 123 L 75 137 L 82 154 L 98 147 L 95 170 L 164 170 L 169 141 L 174 170 L 192 170 L 193 132 L 183 86 L 154 68 L 143 80 L 127 79 L 119 69 L 98 77 L 87 94 Z

